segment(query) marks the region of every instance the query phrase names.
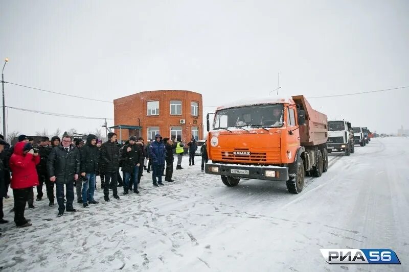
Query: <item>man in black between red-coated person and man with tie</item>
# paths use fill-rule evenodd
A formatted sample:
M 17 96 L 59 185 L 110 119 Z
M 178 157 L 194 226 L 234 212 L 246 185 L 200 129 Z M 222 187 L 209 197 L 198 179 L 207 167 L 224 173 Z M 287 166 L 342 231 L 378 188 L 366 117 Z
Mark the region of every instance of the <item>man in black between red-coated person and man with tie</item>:
M 46 184 L 47 189 L 47 197 L 50 201 L 49 206 L 54 205 L 54 183 L 50 182 L 50 177 L 48 176 L 47 172 L 47 160 L 50 156 L 51 151 L 53 148 L 48 144 L 49 137 L 44 136 L 40 139 L 40 144 L 38 145 L 38 156 L 40 157 L 40 163 L 37 164 L 37 175 L 38 175 L 38 182 L 39 185 L 37 186 L 37 199 L 36 201 L 40 201 L 42 199 L 42 185 Z

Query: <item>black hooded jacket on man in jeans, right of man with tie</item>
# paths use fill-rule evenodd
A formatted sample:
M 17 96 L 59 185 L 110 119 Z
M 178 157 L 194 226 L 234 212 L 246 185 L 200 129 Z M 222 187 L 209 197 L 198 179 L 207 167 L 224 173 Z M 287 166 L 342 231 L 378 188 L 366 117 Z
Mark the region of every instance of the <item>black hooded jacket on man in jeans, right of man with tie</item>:
M 98 139 L 98 137 L 94 134 L 88 134 L 86 143 L 81 149 L 81 172 L 86 174 L 98 172 L 99 151 L 97 144 L 91 144 L 93 139 Z

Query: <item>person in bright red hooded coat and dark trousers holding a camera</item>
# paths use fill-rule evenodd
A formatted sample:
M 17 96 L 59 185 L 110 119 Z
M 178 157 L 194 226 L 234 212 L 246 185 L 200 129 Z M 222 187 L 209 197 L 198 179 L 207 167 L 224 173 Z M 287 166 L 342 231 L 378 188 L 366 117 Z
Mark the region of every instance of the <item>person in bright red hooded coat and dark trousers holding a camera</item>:
M 39 185 L 36 165 L 40 162 L 38 153 L 34 153 L 30 143 L 18 142 L 14 146 L 13 155 L 10 158 L 11 188 L 14 195 L 14 222 L 17 227 L 30 227 L 24 217 L 27 200 L 33 186 Z

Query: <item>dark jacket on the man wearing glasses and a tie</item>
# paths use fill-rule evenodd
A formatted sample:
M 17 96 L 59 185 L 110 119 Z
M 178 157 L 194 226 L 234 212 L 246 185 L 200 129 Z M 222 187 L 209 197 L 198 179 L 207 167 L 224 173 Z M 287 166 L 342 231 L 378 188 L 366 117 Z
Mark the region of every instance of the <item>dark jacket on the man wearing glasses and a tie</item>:
M 80 153 L 77 147 L 70 145 L 66 152 L 60 144 L 54 147 L 47 160 L 49 177 L 56 177 L 56 183 L 74 182 L 74 175 L 80 174 Z

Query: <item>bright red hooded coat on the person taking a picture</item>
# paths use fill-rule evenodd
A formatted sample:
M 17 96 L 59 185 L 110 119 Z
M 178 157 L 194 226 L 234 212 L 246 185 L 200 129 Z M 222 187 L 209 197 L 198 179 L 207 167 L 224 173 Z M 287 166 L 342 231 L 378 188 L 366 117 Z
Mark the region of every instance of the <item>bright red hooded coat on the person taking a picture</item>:
M 40 156 L 31 154 L 24 155 L 25 142 L 18 142 L 14 146 L 13 155 L 10 158 L 12 171 L 11 188 L 24 189 L 39 185 L 36 165 L 40 162 Z

